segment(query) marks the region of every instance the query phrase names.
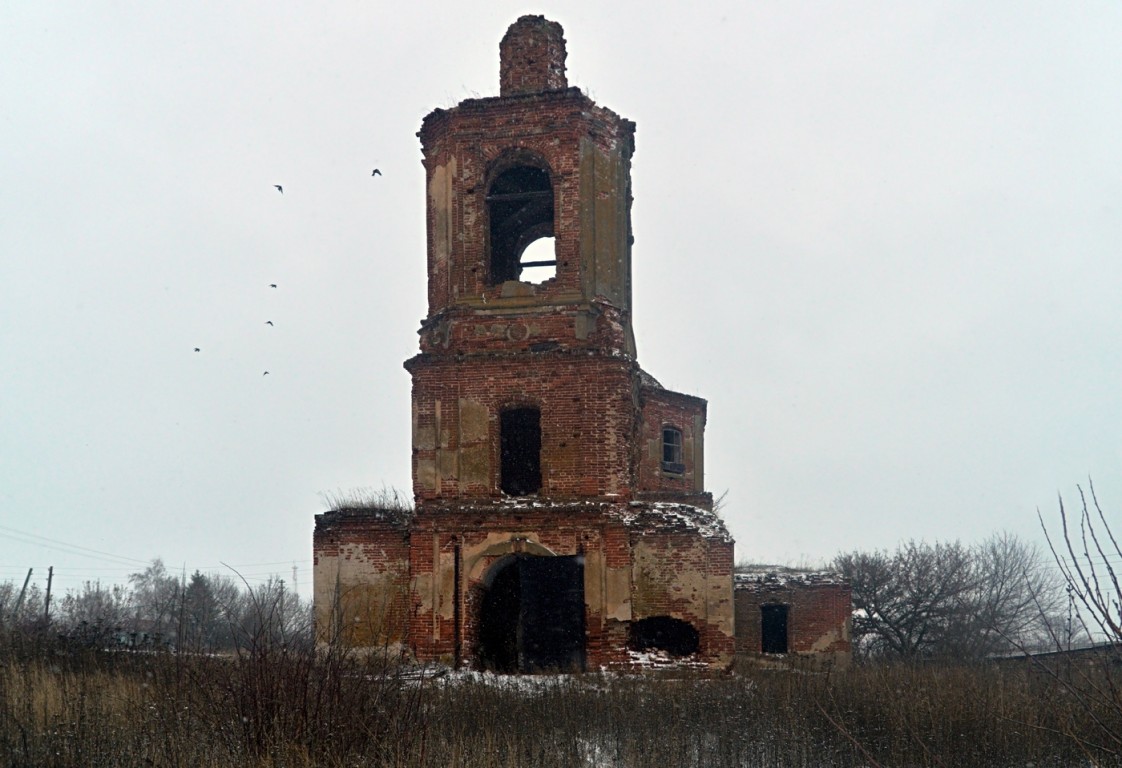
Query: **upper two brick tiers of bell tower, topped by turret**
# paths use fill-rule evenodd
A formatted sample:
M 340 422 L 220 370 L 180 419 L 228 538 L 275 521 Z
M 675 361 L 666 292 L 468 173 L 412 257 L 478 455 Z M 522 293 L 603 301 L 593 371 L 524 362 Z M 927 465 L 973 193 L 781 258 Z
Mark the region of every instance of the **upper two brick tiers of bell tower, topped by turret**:
M 525 16 L 500 95 L 429 115 L 429 314 L 413 375 L 419 501 L 632 492 L 635 125 L 564 74 Z

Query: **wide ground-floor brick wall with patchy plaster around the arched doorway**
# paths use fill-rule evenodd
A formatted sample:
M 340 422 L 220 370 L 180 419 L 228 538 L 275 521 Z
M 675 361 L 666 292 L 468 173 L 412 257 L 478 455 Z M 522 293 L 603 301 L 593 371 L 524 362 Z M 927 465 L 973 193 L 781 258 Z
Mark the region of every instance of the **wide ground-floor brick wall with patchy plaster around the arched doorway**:
M 691 530 L 636 528 L 626 522 L 628 509 L 423 506 L 407 531 L 375 514 L 319 515 L 320 640 L 339 627 L 342 639 L 356 647 L 405 642 L 419 659 L 459 657 L 471 664 L 485 579 L 518 551 L 512 542 L 523 541 L 515 545 L 526 547 L 522 551 L 585 557 L 588 668 L 626 664 L 631 621 L 653 615 L 689 622 L 700 634 L 701 657 L 727 661 L 733 652 L 732 541 Z M 624 578 L 623 593 L 605 591 L 610 574 Z M 337 585 L 341 601 L 330 595 Z

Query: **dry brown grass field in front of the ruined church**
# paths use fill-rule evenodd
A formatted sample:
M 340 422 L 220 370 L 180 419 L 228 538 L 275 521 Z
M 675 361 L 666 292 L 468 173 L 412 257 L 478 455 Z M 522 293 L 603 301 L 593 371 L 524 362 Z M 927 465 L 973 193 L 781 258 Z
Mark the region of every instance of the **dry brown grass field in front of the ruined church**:
M 1112 685 L 1114 665 L 1079 685 Z M 1070 679 L 1070 678 L 1069 678 Z M 1079 683 L 1079 680 L 1083 680 Z M 1029 664 L 502 677 L 339 649 L 0 649 L 20 768 L 1122 765 L 1120 713 Z

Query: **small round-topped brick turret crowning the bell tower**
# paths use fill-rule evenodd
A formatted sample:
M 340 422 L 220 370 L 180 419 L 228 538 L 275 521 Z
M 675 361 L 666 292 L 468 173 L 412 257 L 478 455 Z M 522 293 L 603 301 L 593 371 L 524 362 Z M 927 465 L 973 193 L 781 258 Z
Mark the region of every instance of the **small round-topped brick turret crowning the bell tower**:
M 499 93 L 541 93 L 569 86 L 564 76 L 564 30 L 544 16 L 523 16 L 499 43 Z

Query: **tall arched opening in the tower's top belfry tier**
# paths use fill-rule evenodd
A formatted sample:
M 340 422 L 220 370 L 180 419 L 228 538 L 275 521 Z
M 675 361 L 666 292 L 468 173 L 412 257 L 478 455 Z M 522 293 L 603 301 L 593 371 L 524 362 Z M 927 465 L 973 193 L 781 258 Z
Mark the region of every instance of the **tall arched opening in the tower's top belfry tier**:
M 487 191 L 487 214 L 491 284 L 524 280 L 523 267 L 557 268 L 553 254 L 534 258 L 532 264 L 522 259 L 531 243 L 553 237 L 553 184 L 549 171 L 518 165 L 500 173 Z

